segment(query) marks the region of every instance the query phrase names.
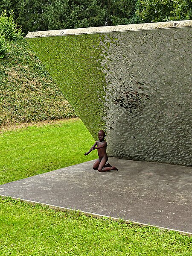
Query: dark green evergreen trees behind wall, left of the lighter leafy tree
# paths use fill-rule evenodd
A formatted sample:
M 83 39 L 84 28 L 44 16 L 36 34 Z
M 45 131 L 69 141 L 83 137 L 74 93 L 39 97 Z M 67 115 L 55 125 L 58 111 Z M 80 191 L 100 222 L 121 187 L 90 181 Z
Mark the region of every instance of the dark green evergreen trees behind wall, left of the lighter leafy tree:
M 137 22 L 139 0 L 2 0 L 0 12 L 14 11 L 16 22 L 29 31 L 108 26 Z

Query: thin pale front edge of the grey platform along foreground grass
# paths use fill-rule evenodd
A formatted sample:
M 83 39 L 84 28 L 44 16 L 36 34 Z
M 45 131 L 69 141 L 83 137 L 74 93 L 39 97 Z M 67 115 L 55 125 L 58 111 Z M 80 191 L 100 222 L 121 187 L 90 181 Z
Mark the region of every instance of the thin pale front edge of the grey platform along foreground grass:
M 21 202 L 25 202 L 25 203 L 29 203 L 31 205 L 35 205 L 35 204 L 41 204 L 42 206 L 48 206 L 49 209 L 55 209 L 55 210 L 58 210 L 58 211 L 61 211 L 61 212 L 79 212 L 81 214 L 84 214 L 86 216 L 92 216 L 94 218 L 109 218 L 111 219 L 112 221 L 118 221 L 119 220 L 122 220 L 120 218 L 115 218 L 115 217 L 111 217 L 111 216 L 107 216 L 107 215 L 101 215 L 101 214 L 97 214 L 97 213 L 93 213 L 93 212 L 85 212 L 85 211 L 81 211 L 81 210 L 76 210 L 76 209 L 70 209 L 70 208 L 65 208 L 65 207 L 61 207 L 61 206 L 55 206 L 55 205 L 52 205 L 52 204 L 48 204 L 48 203 L 41 203 L 41 202 L 37 202 L 37 201 L 32 201 L 32 200 L 26 200 L 26 199 L 21 199 L 21 198 L 17 198 L 17 197 L 8 197 L 8 196 L 5 196 L 5 195 L 2 195 L 0 194 L 0 197 L 3 197 L 3 198 L 12 198 L 12 199 L 15 199 L 17 201 L 21 201 Z M 170 228 L 166 228 L 166 227 L 159 227 L 159 226 L 155 226 L 155 225 L 151 225 L 151 224 L 146 224 L 146 223 L 142 223 L 142 222 L 137 222 L 137 221 L 131 221 L 131 220 L 122 220 L 123 223 L 126 223 L 126 224 L 135 224 L 135 225 L 138 225 L 138 226 L 145 226 L 145 227 L 157 227 L 158 229 L 160 230 L 164 230 L 164 231 L 176 231 L 178 233 L 180 233 L 181 235 L 187 235 L 189 237 L 192 236 L 192 233 L 190 232 L 186 232 L 186 231 L 182 231 L 182 230 L 174 230 L 174 229 L 170 229 Z

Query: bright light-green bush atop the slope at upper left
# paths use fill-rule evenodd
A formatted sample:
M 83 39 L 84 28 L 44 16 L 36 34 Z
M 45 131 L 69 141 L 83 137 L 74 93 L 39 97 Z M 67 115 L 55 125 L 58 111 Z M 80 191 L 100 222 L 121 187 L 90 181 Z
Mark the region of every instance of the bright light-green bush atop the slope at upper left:
M 0 35 L 4 35 L 6 39 L 15 40 L 22 36 L 22 31 L 14 21 L 14 13 L 11 12 L 10 16 L 7 16 L 6 10 L 0 16 Z

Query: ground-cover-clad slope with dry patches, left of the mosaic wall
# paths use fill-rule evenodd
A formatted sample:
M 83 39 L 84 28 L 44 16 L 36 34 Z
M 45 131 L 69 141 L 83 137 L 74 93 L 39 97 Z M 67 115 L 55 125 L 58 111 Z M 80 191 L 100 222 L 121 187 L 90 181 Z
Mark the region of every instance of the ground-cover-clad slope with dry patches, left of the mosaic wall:
M 26 40 L 10 44 L 0 59 L 0 125 L 75 116 Z

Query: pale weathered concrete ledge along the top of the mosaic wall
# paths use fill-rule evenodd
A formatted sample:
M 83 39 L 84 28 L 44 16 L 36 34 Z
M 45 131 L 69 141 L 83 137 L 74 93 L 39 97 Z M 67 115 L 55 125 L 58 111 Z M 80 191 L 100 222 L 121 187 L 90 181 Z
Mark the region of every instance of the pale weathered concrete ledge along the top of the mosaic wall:
M 62 35 L 100 34 L 100 33 L 108 33 L 108 32 L 168 29 L 168 28 L 190 27 L 190 26 L 192 26 L 192 20 L 128 24 L 128 25 L 119 25 L 119 26 L 98 26 L 98 27 L 87 27 L 87 28 L 79 28 L 79 29 L 59 29 L 59 30 L 29 32 L 26 35 L 26 38 L 62 36 Z

